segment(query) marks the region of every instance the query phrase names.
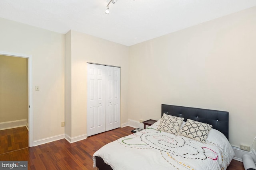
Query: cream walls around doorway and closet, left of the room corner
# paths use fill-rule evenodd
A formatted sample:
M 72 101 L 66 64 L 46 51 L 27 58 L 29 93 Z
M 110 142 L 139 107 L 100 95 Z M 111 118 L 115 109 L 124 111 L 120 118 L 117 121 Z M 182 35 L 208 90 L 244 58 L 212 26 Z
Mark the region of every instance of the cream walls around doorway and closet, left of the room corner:
M 0 24 L 0 51 L 32 55 L 33 141 L 86 134 L 86 62 L 121 67 L 121 123 L 127 123 L 128 47 L 76 31 L 63 35 L 2 18 Z

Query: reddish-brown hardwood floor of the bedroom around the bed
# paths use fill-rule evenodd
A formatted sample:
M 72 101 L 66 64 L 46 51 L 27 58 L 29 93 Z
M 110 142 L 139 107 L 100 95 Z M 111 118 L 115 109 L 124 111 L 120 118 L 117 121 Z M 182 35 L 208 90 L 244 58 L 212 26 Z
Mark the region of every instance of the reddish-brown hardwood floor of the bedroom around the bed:
M 29 170 L 93 170 L 92 155 L 102 146 L 131 134 L 132 127 L 114 129 L 69 143 L 65 139 L 0 155 L 0 160 L 27 160 Z M 232 160 L 227 170 L 244 170 Z

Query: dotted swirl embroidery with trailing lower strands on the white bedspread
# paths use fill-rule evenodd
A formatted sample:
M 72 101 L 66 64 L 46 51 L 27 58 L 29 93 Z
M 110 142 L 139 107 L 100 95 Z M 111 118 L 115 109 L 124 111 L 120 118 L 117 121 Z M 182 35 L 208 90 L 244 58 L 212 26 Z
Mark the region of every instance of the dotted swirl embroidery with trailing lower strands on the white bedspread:
M 182 162 L 184 158 L 185 160 L 212 159 L 213 161 L 218 159 L 218 155 L 214 150 L 208 147 L 200 147 L 191 142 L 193 141 L 192 139 L 185 139 L 182 136 L 168 136 L 166 133 L 156 130 L 148 133 L 134 133 L 129 137 L 118 139 L 118 143 L 125 147 L 136 149 L 157 149 L 160 151 L 162 158 L 176 168 L 178 168 L 177 166 L 183 166 L 186 169 L 194 169 Z

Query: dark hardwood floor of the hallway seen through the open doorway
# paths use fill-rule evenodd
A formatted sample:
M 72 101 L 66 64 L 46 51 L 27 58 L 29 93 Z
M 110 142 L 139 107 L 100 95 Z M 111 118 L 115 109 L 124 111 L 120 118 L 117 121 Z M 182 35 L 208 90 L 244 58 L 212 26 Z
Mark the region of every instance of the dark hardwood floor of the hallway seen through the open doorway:
M 0 131 L 0 154 L 28 147 L 28 129 L 17 127 Z

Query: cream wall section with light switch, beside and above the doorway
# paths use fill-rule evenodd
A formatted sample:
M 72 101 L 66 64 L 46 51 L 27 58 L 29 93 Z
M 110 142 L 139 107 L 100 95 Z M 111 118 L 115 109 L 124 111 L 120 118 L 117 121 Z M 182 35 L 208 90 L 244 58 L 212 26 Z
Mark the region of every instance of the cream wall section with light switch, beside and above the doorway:
M 64 35 L 2 18 L 0 25 L 0 51 L 32 55 L 33 141 L 64 134 Z

